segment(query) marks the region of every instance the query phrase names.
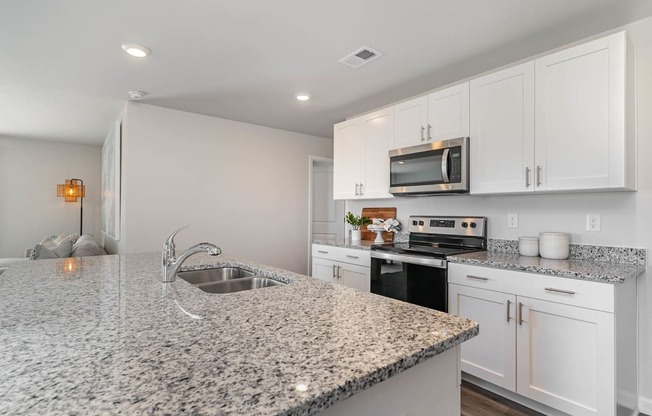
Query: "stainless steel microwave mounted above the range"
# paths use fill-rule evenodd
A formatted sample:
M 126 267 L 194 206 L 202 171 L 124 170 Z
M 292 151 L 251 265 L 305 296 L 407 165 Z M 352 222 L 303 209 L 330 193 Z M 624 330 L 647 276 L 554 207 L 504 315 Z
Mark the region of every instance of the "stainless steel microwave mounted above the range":
M 436 195 L 469 192 L 469 138 L 390 150 L 389 192 Z

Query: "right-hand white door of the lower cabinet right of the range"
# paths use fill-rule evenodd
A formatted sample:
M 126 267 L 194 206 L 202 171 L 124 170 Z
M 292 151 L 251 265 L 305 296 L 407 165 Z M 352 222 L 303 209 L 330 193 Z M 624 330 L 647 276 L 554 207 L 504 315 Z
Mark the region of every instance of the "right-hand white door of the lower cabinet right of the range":
M 614 415 L 613 314 L 517 302 L 517 393 L 576 416 Z

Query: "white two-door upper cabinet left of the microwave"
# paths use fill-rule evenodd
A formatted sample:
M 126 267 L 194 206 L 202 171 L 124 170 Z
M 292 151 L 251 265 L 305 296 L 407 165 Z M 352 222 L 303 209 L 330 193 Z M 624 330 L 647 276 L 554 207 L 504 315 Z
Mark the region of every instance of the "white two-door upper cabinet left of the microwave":
M 392 198 L 389 150 L 393 145 L 394 110 L 386 108 L 335 125 L 333 198 Z

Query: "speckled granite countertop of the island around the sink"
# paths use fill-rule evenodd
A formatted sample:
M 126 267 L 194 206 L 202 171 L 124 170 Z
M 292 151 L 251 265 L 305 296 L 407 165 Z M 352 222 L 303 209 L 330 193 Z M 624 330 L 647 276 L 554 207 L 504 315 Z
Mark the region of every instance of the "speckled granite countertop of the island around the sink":
M 290 283 L 227 295 L 164 285 L 160 253 L 12 266 L 0 277 L 0 414 L 312 415 L 478 333 L 247 260 L 186 264 Z

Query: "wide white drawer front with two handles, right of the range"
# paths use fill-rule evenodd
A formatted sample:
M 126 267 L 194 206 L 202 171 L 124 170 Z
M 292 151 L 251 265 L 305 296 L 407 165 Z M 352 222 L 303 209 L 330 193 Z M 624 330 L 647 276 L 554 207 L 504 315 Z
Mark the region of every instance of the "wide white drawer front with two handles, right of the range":
M 448 281 L 550 302 L 614 312 L 614 286 L 536 273 L 449 263 Z

